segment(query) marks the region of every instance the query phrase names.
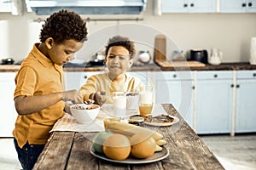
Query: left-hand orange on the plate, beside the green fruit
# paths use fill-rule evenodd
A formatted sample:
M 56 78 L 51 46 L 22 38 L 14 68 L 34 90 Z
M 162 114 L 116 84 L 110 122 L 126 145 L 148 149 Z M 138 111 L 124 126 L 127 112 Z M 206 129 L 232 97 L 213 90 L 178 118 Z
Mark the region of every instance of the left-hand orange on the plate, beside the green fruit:
M 130 140 L 123 134 L 113 134 L 104 140 L 103 152 L 110 159 L 123 161 L 130 155 Z

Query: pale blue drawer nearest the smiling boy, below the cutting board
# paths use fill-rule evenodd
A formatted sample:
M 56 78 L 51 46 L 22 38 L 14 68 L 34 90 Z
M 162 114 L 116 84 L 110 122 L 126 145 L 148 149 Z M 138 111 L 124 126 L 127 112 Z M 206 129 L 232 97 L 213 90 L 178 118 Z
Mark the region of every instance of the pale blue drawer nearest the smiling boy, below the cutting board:
M 156 80 L 193 80 L 193 71 L 161 71 L 157 73 Z

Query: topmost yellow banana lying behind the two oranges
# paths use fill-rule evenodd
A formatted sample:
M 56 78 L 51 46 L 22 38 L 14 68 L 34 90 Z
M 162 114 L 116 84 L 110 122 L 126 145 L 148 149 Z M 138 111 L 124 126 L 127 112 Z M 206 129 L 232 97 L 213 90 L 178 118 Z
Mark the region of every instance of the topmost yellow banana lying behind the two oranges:
M 130 135 L 135 133 L 143 133 L 145 135 L 148 135 L 148 137 L 152 137 L 155 141 L 164 139 L 164 136 L 162 134 L 157 133 L 154 130 L 124 122 L 108 122 L 106 130 L 121 131 L 121 133 L 127 133 Z

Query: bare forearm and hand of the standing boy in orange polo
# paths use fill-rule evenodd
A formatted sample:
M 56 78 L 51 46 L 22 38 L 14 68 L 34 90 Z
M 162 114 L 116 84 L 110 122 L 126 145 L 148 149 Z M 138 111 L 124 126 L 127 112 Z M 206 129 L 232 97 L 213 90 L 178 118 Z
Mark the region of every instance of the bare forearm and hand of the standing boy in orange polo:
M 71 100 L 73 103 L 83 103 L 82 96 L 77 90 L 45 94 L 38 96 L 18 96 L 15 98 L 15 108 L 19 115 L 28 115 L 54 105 L 64 100 Z

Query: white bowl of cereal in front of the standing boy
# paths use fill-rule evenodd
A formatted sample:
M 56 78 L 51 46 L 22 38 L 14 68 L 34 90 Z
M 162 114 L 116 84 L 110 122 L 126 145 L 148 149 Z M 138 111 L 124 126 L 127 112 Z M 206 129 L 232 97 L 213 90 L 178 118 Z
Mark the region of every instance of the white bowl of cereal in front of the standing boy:
M 93 122 L 99 114 L 100 105 L 75 104 L 70 106 L 70 111 L 77 122 L 90 123 Z

